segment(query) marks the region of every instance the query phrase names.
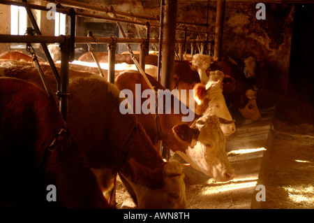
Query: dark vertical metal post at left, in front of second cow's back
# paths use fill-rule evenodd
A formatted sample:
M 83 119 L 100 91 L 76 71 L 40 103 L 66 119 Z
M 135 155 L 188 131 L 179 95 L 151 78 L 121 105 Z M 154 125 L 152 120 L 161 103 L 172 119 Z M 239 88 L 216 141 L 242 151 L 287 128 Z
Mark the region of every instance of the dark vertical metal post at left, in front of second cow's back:
M 65 36 L 66 42 L 61 44 L 60 68 L 60 111 L 63 120 L 68 122 L 68 62 L 70 57 L 70 36 Z

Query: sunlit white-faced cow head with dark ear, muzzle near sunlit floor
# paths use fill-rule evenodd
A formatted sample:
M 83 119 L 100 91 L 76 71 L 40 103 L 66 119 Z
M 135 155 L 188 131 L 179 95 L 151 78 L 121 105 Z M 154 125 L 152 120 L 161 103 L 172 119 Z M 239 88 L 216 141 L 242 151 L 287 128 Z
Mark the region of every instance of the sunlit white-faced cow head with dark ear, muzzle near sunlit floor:
M 179 141 L 189 144 L 187 150 L 177 153 L 193 168 L 217 181 L 232 180 L 235 173 L 225 152 L 225 136 L 218 117 L 204 115 L 195 122 L 195 127 L 179 124 L 172 129 Z

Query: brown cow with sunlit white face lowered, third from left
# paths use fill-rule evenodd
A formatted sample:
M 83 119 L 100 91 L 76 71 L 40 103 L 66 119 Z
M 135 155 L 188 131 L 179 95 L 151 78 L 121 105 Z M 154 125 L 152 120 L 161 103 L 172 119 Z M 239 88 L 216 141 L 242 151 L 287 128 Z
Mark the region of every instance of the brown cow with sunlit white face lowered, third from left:
M 160 85 L 155 78 L 150 75 L 147 75 L 147 77 L 151 85 L 156 87 L 156 89 L 165 90 L 165 87 Z M 136 93 L 138 94 L 138 85 L 136 84 L 140 84 L 142 92 L 149 89 L 147 82 L 139 71 L 125 71 L 120 73 L 114 84 L 122 92 L 133 92 L 133 98 L 131 99 L 133 101 L 137 100 L 136 97 L 138 97 L 135 95 Z M 126 91 L 123 91 L 124 89 Z M 141 95 L 142 92 L 140 92 Z M 177 103 L 176 100 L 178 99 L 176 97 L 170 95 L 170 98 L 174 104 Z M 141 97 L 140 104 L 142 105 L 146 100 Z M 155 105 L 154 102 L 153 105 Z M 179 101 L 178 105 L 182 108 L 181 101 Z M 193 113 L 195 115 L 194 119 L 191 122 L 183 122 L 182 117 L 184 117 L 184 114 L 182 112 L 175 114 L 174 106 L 170 108 L 165 106 L 163 109 L 169 109 L 168 111 L 165 110 L 163 114 L 158 115 L 161 138 L 165 145 L 188 161 L 193 168 L 206 175 L 213 176 L 215 180 L 232 180 L 235 173 L 227 159 L 225 136 L 220 129 L 220 120 L 221 122 L 226 122 L 226 120 L 218 119 L 216 115 L 204 115 L 200 117 L 194 114 L 192 110 L 188 110 L 189 114 Z M 158 143 L 154 121 L 155 115 L 153 113 L 137 113 L 136 115 L 151 140 L 154 143 Z

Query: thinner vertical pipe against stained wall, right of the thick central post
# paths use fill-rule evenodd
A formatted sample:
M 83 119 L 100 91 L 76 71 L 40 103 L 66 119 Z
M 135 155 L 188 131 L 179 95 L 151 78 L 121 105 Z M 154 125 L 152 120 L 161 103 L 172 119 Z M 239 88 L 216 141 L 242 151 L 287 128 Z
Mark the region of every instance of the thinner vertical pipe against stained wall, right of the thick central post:
M 217 1 L 214 58 L 221 60 L 223 49 L 223 24 L 225 20 L 225 0 Z

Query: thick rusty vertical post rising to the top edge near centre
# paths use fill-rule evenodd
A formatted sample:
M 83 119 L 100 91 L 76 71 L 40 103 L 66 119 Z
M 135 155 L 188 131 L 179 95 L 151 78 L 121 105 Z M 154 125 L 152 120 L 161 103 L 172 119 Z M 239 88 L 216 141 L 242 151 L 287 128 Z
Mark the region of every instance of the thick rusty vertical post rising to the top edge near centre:
M 172 89 L 174 73 L 174 48 L 176 45 L 177 0 L 165 0 L 165 15 L 163 29 L 163 58 L 161 84 L 166 89 Z

